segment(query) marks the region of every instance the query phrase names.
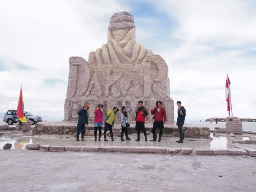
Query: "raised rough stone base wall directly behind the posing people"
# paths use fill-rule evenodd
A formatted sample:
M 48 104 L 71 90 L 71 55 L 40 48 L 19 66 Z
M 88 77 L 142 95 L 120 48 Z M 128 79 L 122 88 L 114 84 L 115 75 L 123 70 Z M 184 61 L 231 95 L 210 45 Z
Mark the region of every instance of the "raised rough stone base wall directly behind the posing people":
M 120 127 L 121 126 L 115 126 Z M 115 128 L 114 127 L 114 128 Z M 152 127 L 145 127 L 146 131 L 151 132 Z M 86 130 L 94 130 L 93 126 L 86 126 Z M 104 127 L 102 128 L 104 130 Z M 73 126 L 52 126 L 52 125 L 43 125 L 43 124 L 36 124 L 33 128 L 32 135 L 42 135 L 42 134 L 57 134 L 57 135 L 73 135 L 76 133 L 76 125 Z M 128 134 L 137 133 L 137 130 L 135 130 L 135 127 L 128 128 Z M 206 127 L 184 127 L 183 133 L 185 137 L 188 138 L 204 138 L 204 139 L 210 139 L 210 129 Z M 159 134 L 159 129 L 156 129 L 156 134 Z M 178 128 L 177 127 L 165 127 L 163 129 L 164 135 L 169 135 L 170 137 L 180 137 Z

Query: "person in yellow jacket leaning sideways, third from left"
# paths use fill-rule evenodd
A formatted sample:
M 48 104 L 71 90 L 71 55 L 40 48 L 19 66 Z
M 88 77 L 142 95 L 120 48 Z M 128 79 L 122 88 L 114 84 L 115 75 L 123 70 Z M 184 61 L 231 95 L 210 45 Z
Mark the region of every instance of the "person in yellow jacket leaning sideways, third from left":
M 114 141 L 112 127 L 114 126 L 114 122 L 116 120 L 117 111 L 119 111 L 119 109 L 117 107 L 114 107 L 113 109 L 110 109 L 109 111 L 107 111 L 107 116 L 104 119 L 104 122 L 105 122 L 105 125 L 104 125 L 104 141 L 108 141 L 107 140 L 107 130 L 110 131 L 111 140 Z

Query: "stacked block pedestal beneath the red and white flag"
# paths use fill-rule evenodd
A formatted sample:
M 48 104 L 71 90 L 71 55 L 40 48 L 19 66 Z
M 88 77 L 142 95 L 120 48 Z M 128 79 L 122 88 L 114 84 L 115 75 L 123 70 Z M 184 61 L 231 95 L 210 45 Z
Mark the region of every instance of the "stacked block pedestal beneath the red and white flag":
M 242 134 L 242 121 L 237 117 L 227 117 L 226 120 L 227 133 Z

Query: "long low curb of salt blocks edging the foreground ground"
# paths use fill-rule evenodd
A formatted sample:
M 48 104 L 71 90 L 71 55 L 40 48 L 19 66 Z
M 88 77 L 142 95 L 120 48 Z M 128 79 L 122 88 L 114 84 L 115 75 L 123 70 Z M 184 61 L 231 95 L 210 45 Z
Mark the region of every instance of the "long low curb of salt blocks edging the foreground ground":
M 256 156 L 254 149 L 193 149 L 170 147 L 121 147 L 121 146 L 50 146 L 28 144 L 25 147 L 31 150 L 47 152 L 129 152 L 129 153 L 161 153 L 161 154 L 194 154 L 194 155 L 248 155 Z

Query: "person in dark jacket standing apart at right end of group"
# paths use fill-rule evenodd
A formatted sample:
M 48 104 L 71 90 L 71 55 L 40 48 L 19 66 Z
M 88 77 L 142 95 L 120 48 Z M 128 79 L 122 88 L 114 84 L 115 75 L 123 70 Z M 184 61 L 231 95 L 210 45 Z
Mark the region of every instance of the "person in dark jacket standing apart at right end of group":
M 181 106 L 181 102 L 177 101 L 177 106 L 178 106 L 178 118 L 177 118 L 177 123 L 176 125 L 178 126 L 179 133 L 180 133 L 180 140 L 176 141 L 178 143 L 183 143 L 184 140 L 184 133 L 183 133 L 183 124 L 185 121 L 185 116 L 186 116 L 186 109 Z

